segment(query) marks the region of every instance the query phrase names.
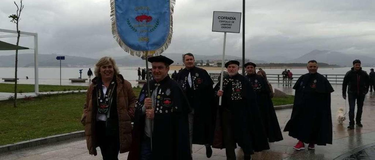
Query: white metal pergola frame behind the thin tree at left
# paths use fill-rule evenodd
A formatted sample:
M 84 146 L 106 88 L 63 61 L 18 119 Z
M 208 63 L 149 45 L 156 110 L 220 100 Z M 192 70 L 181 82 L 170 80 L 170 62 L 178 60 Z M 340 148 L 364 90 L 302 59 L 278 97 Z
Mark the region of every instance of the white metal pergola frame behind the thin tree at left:
M 10 38 L 10 37 L 17 37 L 17 31 L 13 30 L 5 30 L 0 29 L 0 32 L 3 33 L 13 33 L 7 35 L 0 35 L 0 38 Z M 15 34 L 14 34 L 15 33 Z M 20 32 L 21 37 L 33 36 L 34 37 L 34 76 L 35 76 L 35 83 L 34 83 L 34 92 L 39 92 L 39 78 L 38 78 L 38 34 L 31 33 L 31 32 Z

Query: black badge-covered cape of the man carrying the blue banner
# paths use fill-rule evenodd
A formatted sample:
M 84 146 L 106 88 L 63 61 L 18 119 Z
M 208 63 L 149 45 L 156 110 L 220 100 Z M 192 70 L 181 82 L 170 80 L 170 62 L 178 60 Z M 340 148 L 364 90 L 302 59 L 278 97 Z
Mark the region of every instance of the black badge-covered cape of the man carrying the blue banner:
M 157 89 L 157 90 L 156 90 Z M 155 116 L 152 132 L 153 160 L 190 160 L 189 103 L 175 80 L 165 77 L 157 83 L 150 81 L 150 91 L 156 90 Z M 144 99 L 147 98 L 147 84 L 139 93 L 135 105 L 132 147 L 128 160 L 139 160 L 141 141 L 144 135 L 145 114 L 142 114 Z

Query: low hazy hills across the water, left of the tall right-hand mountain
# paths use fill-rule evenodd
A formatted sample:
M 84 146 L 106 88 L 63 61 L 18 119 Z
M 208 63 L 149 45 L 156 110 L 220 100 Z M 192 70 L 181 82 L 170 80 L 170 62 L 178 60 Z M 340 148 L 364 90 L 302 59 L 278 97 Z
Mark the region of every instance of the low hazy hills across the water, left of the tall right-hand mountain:
M 178 53 L 168 53 L 163 54 L 168 58 L 171 58 L 174 61 L 175 65 L 182 64 L 182 54 Z M 64 56 L 64 55 L 44 55 L 38 54 L 38 65 L 39 67 L 58 67 L 60 66 L 60 62 L 56 60 L 56 56 Z M 222 55 L 194 55 L 195 61 L 203 60 L 204 63 L 206 60 L 209 61 L 217 61 L 221 60 Z M 226 59 L 233 60 L 233 59 L 242 59 L 241 57 L 237 56 L 230 56 L 226 55 Z M 144 66 L 145 62 L 139 57 L 126 55 L 120 57 L 114 57 L 117 65 L 122 66 Z M 79 57 L 79 56 L 67 56 L 65 55 L 65 60 L 61 61 L 62 67 L 83 67 L 83 66 L 94 66 L 98 59 L 94 58 L 87 58 L 87 57 Z M 0 67 L 14 67 L 15 62 L 15 55 L 8 55 L 8 56 L 0 56 Z M 267 63 L 266 61 L 257 61 L 254 60 L 254 63 Z M 18 55 L 18 66 L 19 67 L 31 67 L 34 66 L 34 54 L 19 54 Z

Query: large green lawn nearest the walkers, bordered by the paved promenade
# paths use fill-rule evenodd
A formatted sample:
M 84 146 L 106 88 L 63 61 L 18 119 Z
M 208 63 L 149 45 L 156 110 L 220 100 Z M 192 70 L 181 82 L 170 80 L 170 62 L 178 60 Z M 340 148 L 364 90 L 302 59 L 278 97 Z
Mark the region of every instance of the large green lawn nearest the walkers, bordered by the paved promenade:
M 77 87 L 77 86 L 75 86 Z M 136 96 L 141 88 L 133 87 Z M 84 130 L 80 123 L 86 93 L 44 95 L 0 101 L 0 145 Z M 273 98 L 274 105 L 293 104 L 293 96 Z

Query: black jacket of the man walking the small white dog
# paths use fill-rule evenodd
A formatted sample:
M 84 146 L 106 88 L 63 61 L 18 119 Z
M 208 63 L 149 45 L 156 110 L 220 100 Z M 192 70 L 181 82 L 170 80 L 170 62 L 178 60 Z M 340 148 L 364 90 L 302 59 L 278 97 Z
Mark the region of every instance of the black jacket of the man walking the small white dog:
M 342 95 L 346 95 L 347 86 L 349 86 L 348 93 L 365 95 L 369 92 L 370 77 L 362 68 L 359 71 L 354 71 L 354 68 L 351 68 L 345 74 L 344 81 L 342 82 Z

